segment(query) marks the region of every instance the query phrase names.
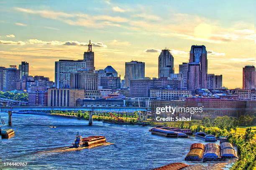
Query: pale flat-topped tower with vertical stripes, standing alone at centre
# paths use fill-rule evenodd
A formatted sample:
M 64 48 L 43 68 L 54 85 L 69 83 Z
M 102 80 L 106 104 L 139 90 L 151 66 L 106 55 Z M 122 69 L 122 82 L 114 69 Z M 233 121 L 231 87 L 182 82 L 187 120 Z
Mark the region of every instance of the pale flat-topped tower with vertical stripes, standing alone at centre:
M 145 62 L 125 62 L 125 88 L 130 87 L 130 80 L 145 77 Z

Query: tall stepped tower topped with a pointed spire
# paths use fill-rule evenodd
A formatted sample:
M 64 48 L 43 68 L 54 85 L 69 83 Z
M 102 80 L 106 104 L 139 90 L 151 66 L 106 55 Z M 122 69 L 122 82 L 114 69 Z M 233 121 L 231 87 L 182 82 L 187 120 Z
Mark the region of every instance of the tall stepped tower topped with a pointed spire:
M 84 62 L 86 62 L 85 69 L 95 70 L 95 67 L 94 67 L 94 52 L 92 51 L 91 40 L 89 41 L 87 52 L 84 52 Z

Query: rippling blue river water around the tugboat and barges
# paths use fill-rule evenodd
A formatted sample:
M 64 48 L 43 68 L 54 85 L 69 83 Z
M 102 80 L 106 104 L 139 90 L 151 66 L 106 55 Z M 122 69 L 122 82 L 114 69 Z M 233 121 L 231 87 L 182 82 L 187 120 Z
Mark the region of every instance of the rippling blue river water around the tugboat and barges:
M 1 118 L 8 122 L 6 112 L 1 112 Z M 4 125 L 2 129 L 7 127 L 8 125 Z M 202 140 L 194 137 L 164 138 L 151 135 L 148 132 L 150 127 L 113 125 L 99 121 L 93 121 L 93 125 L 89 126 L 87 120 L 13 113 L 10 128 L 15 130 L 15 136 L 2 140 L 3 162 L 27 162 L 26 169 L 148 170 L 176 162 L 202 164 L 184 160 L 190 145 L 204 143 Z M 77 132 L 83 137 L 103 135 L 113 145 L 62 153 L 51 152 L 52 148 L 71 145 Z M 47 150 L 50 152 L 44 152 Z M 203 165 L 210 163 L 214 162 Z

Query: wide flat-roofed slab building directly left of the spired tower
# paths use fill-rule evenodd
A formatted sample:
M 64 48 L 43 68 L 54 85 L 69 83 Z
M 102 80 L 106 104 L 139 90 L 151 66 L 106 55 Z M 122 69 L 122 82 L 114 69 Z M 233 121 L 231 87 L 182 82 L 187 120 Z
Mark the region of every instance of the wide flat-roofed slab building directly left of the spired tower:
M 77 70 L 85 69 L 84 60 L 59 60 L 55 61 L 55 86 L 56 88 L 69 88 L 70 74 Z

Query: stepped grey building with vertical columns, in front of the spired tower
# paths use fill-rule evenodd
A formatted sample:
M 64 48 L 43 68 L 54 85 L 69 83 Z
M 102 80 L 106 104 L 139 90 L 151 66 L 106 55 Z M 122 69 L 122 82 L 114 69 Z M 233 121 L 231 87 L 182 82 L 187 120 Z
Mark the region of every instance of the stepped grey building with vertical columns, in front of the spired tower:
M 100 97 L 98 90 L 98 74 L 92 70 L 78 70 L 70 74 L 70 88 L 84 89 L 85 98 Z

